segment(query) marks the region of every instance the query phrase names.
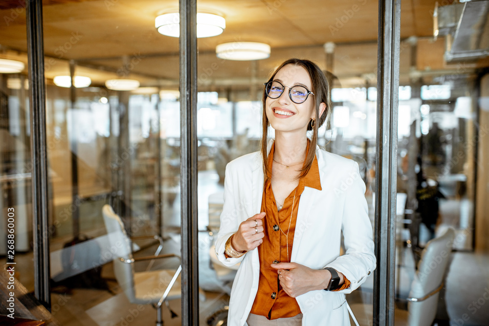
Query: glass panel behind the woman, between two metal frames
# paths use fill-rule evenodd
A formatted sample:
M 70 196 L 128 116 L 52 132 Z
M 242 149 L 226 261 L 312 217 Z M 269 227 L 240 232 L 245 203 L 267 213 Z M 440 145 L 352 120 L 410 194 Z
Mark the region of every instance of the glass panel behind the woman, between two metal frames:
M 377 79 L 378 4 L 368 1 L 309 1 L 307 4 L 247 1 L 241 4 L 221 2 L 218 6 L 213 1 L 202 0 L 198 2 L 198 10 L 217 14 L 226 21 L 222 34 L 198 39 L 199 92 L 217 92 L 218 102 L 225 102 L 230 110 L 226 116 L 222 116 L 221 110 L 221 121 L 216 124 L 219 130 L 214 130 L 213 135 L 204 130 L 214 125 L 217 113 L 214 109 L 206 109 L 205 113 L 200 109 L 198 115 L 198 126 L 202 128 L 199 129 L 199 274 L 200 288 L 208 298 L 200 304 L 200 323 L 226 325 L 231 288 L 236 273 L 240 272 L 237 272 L 237 265 L 222 264 L 214 249 L 223 220 L 220 215 L 225 167 L 244 154 L 260 151 L 264 83 L 285 60 L 309 59 L 326 74 L 333 88 L 331 126 L 325 124 L 319 128 L 317 144 L 358 163 L 360 176 L 366 183 L 364 196 L 368 203 L 369 225 L 373 228 L 378 126 L 376 95 L 373 99 L 368 97 L 367 89 L 375 88 Z M 248 49 L 249 45 L 253 47 Z M 247 56 L 254 49 L 258 49 L 258 53 L 254 53 L 257 59 Z M 202 108 L 200 104 L 198 107 Z M 312 133 L 308 135 L 311 137 Z M 268 136 L 275 136 L 272 127 Z M 261 164 L 258 169 L 262 170 Z M 235 210 L 239 215 L 247 208 L 240 206 Z M 344 248 L 342 245 L 342 253 Z M 234 290 L 246 291 L 244 288 Z M 373 278 L 369 277 L 358 290 L 347 295 L 348 302 L 359 311 L 362 325 L 372 323 L 372 293 Z M 309 304 L 314 305 L 312 301 Z

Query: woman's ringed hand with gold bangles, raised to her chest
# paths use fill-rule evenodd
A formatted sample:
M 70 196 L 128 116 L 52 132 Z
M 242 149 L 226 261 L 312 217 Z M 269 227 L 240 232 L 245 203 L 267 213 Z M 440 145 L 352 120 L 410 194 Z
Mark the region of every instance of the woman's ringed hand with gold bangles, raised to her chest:
M 243 221 L 238 231 L 231 239 L 231 245 L 238 252 L 250 251 L 258 247 L 263 242 L 263 217 L 265 212 L 256 214 Z

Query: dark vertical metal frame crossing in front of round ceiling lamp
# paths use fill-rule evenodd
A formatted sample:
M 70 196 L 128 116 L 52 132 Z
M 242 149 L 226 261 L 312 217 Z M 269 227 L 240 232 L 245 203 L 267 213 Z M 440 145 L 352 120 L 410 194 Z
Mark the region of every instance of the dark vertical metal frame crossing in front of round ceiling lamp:
M 180 10 L 180 191 L 182 325 L 199 325 L 197 224 L 197 1 Z

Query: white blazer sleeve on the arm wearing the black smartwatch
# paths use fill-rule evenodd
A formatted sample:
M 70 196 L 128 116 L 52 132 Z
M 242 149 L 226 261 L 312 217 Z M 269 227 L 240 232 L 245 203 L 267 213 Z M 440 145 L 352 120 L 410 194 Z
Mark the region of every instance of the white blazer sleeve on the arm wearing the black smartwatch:
M 345 176 L 345 200 L 341 229 L 343 231 L 346 252 L 326 267 L 333 267 L 343 273 L 351 282 L 346 289 L 337 291 L 350 293 L 360 286 L 376 267 L 372 223 L 368 216 L 365 199 L 365 183 L 358 164 L 353 161 L 352 169 Z

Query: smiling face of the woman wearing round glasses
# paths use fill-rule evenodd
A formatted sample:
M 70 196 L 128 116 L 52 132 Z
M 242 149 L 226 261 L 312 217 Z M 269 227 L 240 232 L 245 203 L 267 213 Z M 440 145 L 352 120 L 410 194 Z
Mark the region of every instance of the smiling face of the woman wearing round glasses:
M 300 131 L 305 134 L 309 122 L 315 117 L 314 95 L 309 94 L 301 104 L 294 103 L 289 97 L 289 86 L 300 85 L 313 92 L 309 73 L 302 66 L 285 65 L 273 80 L 280 82 L 285 89 L 279 98 L 267 97 L 265 101 L 265 112 L 270 125 L 275 131 Z

